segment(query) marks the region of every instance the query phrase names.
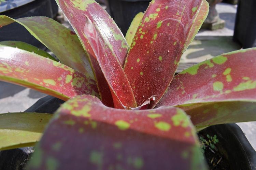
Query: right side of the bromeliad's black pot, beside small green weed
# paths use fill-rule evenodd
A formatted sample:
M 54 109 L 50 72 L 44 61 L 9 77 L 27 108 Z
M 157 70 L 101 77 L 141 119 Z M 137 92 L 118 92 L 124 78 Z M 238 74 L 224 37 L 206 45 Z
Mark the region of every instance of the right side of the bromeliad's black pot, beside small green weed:
M 215 144 L 232 170 L 256 170 L 256 152 L 236 123 L 210 126 L 199 134 L 217 136 Z

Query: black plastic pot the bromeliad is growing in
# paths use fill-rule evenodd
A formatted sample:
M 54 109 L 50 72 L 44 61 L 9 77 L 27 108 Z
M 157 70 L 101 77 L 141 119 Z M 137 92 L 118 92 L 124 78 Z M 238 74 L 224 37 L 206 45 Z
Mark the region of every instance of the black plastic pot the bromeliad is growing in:
M 26 112 L 53 113 L 64 101 L 47 96 L 38 100 Z M 232 170 L 256 170 L 256 152 L 243 131 L 235 123 L 210 126 L 203 133 L 217 135 Z M 0 170 L 22 170 L 33 147 L 0 151 Z

